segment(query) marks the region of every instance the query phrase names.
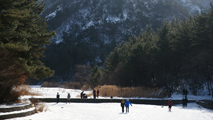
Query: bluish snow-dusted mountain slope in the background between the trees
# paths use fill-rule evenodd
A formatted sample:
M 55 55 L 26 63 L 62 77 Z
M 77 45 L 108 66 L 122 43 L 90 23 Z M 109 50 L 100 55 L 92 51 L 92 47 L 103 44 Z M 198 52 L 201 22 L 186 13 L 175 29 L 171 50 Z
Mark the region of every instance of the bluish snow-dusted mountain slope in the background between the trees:
M 163 20 L 183 19 L 205 11 L 211 0 L 204 1 L 45 0 L 42 17 L 57 36 L 48 46 L 44 62 L 56 71 L 56 76 L 71 79 L 76 64 L 102 66 L 120 42 L 138 36 L 147 25 L 157 30 Z

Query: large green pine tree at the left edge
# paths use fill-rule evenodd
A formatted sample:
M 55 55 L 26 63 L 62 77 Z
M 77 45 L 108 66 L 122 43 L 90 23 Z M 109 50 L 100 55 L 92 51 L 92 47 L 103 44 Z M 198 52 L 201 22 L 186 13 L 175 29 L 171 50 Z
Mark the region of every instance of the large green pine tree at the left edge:
M 40 61 L 55 32 L 40 17 L 44 2 L 1 0 L 0 5 L 0 102 L 6 102 L 20 76 L 41 79 L 54 71 Z

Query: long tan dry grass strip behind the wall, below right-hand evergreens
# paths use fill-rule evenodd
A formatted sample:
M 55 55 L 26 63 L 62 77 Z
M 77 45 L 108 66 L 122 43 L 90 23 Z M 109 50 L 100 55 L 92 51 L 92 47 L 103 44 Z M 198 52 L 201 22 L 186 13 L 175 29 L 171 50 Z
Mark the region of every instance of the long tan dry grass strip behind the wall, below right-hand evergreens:
M 100 96 L 110 97 L 148 97 L 148 98 L 162 98 L 161 91 L 158 88 L 145 87 L 123 87 L 116 85 L 103 85 L 95 88 L 99 89 Z

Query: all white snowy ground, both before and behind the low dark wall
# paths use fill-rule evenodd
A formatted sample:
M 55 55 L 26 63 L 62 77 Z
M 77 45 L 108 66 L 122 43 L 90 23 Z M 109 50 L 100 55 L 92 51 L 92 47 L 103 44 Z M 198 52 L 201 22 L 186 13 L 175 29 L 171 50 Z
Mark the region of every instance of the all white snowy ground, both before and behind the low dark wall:
M 40 86 L 32 86 L 32 91 L 41 94 L 41 96 L 35 96 L 38 98 L 56 98 L 57 92 L 59 92 L 60 98 L 66 98 L 68 93 L 71 94 L 71 98 L 79 98 L 81 93 L 81 90 L 64 88 L 41 88 Z M 90 94 L 92 91 L 88 90 L 85 91 L 85 93 Z M 30 97 L 32 96 L 23 96 L 21 99 Z M 109 99 L 109 97 L 100 98 Z M 114 98 L 118 99 L 118 97 Z M 212 99 L 210 96 L 193 95 L 189 95 L 188 98 L 190 100 Z M 131 99 L 134 98 L 128 99 L 130 99 L 131 102 Z M 182 95 L 174 94 L 171 98 L 164 99 L 181 100 Z M 196 103 L 188 104 L 187 108 L 182 108 L 181 105 L 173 106 L 171 112 L 168 111 L 167 106 L 132 104 L 132 106 L 130 106 L 129 113 L 121 112 L 120 103 L 44 104 L 46 106 L 45 109 L 47 110 L 45 112 L 36 113 L 27 117 L 13 118 L 10 120 L 213 120 L 213 110 L 203 108 Z

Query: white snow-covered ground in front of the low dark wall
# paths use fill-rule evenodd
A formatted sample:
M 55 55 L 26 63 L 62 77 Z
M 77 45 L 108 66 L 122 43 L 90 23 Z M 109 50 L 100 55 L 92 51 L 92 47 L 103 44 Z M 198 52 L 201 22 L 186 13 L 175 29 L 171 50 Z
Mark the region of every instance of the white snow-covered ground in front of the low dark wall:
M 173 106 L 132 104 L 129 113 L 122 113 L 119 103 L 45 103 L 48 111 L 12 120 L 213 120 L 213 110 L 196 103 Z

